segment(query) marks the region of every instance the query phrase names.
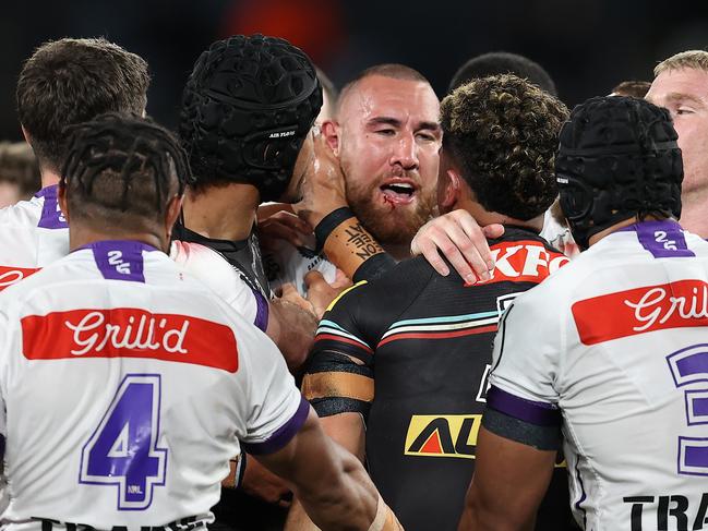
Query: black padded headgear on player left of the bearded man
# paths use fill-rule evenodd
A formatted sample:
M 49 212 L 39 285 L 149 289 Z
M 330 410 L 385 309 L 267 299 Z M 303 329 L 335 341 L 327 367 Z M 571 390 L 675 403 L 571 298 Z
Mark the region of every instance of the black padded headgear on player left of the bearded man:
M 239 182 L 276 201 L 322 107 L 322 87 L 302 50 L 287 40 L 237 35 L 194 64 L 179 134 L 196 186 Z

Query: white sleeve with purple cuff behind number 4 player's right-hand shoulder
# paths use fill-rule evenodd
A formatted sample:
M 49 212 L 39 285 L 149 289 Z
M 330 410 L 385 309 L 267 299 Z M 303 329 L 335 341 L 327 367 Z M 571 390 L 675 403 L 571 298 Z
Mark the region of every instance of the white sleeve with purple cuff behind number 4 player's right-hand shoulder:
M 170 258 L 212 288 L 248 322 L 266 330 L 268 301 L 260 291 L 249 287 L 224 256 L 201 243 L 173 241 Z

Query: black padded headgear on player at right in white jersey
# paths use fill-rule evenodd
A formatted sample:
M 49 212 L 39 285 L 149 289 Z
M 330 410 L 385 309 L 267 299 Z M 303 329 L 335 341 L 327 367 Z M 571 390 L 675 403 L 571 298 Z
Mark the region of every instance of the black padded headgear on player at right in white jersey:
M 683 162 L 667 109 L 604 96 L 577 106 L 561 130 L 555 173 L 561 209 L 578 245 L 647 214 L 681 216 Z

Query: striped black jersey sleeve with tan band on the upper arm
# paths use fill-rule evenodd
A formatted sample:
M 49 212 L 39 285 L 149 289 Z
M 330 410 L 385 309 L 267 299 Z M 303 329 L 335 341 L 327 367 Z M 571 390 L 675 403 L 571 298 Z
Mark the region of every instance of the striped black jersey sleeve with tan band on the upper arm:
M 336 299 L 324 314 L 302 379 L 302 394 L 320 417 L 358 412 L 364 417 L 374 397 L 375 345 L 360 317 L 370 310 L 367 282 Z

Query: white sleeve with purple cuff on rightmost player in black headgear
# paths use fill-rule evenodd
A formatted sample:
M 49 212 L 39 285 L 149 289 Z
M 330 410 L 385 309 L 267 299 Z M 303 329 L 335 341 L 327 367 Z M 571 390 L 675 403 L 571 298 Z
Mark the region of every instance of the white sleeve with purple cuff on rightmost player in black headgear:
M 556 377 L 563 336 L 560 316 L 536 288 L 515 299 L 494 340 L 484 426 L 541 449 L 556 449 L 562 423 Z M 530 297 L 529 297 L 530 295 Z

